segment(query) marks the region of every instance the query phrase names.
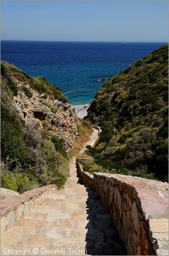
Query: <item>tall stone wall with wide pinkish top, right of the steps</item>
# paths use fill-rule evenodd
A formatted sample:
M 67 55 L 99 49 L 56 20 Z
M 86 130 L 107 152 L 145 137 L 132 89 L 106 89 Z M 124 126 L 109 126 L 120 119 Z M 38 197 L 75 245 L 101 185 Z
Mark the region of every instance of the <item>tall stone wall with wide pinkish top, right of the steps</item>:
M 168 184 L 118 174 L 83 172 L 84 184 L 96 189 L 128 255 L 168 255 Z

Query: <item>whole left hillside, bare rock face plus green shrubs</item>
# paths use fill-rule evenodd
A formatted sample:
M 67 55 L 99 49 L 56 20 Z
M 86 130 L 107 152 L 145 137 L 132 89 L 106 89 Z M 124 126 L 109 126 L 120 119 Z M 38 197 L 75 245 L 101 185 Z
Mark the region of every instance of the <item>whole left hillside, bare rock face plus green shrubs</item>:
M 1 62 L 2 187 L 63 186 L 77 135 L 74 108 L 59 88 Z

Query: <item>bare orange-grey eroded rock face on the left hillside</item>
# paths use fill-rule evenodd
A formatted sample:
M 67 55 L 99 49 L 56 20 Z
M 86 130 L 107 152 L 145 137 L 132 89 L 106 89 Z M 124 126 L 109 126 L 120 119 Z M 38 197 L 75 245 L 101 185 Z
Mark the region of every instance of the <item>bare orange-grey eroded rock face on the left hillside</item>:
M 32 123 L 37 130 L 44 128 L 53 135 L 63 138 L 65 148 L 69 151 L 78 136 L 74 107 L 67 102 L 51 100 L 49 97 L 44 98 L 45 95 L 39 95 L 29 84 L 16 82 L 19 86 L 29 89 L 32 94 L 32 97 L 28 98 L 22 90 L 13 98 L 14 106 L 19 115 L 25 122 Z

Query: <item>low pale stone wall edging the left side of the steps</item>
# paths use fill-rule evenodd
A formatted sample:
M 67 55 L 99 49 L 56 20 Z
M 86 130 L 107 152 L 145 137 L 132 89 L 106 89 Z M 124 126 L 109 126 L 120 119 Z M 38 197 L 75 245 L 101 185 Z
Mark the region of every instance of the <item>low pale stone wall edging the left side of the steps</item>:
M 1 232 L 11 228 L 35 205 L 42 203 L 47 196 L 56 191 L 56 185 L 48 185 L 26 191 L 21 195 L 11 195 L 1 200 Z

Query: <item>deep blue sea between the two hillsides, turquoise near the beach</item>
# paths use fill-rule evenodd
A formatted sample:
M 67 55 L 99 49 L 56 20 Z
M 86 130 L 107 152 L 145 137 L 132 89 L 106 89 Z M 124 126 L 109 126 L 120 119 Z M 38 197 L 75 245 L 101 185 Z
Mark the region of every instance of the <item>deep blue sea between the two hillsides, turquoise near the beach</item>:
M 106 79 L 165 42 L 1 41 L 1 59 L 44 76 L 74 105 L 89 103 Z

